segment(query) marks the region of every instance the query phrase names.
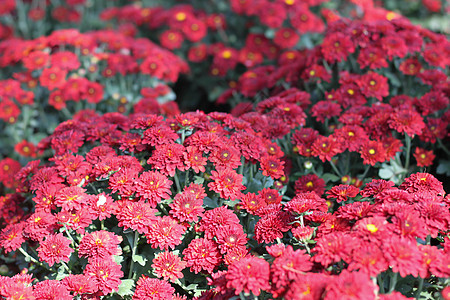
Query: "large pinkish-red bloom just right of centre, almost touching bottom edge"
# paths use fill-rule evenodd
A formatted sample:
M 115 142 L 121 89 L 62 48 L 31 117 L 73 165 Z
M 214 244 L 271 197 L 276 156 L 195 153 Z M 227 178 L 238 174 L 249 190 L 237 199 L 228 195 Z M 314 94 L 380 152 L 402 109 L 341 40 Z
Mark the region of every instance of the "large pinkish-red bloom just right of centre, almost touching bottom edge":
M 269 290 L 269 263 L 262 258 L 249 256 L 231 264 L 225 275 L 227 288 L 235 289 L 235 294 L 252 292 L 259 296 L 261 291 Z

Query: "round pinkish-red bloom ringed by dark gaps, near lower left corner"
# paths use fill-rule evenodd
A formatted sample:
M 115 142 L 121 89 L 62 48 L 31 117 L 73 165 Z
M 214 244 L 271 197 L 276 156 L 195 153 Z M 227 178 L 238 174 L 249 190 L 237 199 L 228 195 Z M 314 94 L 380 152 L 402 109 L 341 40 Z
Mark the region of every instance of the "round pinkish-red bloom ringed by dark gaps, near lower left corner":
M 60 261 L 69 261 L 69 256 L 73 252 L 70 248 L 71 241 L 62 233 L 47 236 L 37 248 L 39 259 L 53 266 Z

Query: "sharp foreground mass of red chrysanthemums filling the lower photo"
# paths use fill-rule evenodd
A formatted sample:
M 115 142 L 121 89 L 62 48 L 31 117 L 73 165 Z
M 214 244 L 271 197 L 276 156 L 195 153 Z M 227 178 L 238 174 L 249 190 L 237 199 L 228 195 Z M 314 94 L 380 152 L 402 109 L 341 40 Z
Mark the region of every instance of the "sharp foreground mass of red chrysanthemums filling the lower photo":
M 0 246 L 30 264 L 0 277 L 1 295 L 407 299 L 395 289 L 415 281 L 409 296 L 440 291 L 450 277 L 441 182 L 414 173 L 398 187 L 290 196 L 264 128 L 200 111 L 82 111 L 60 124 L 39 145 L 54 155 L 21 169 L 20 193 L 7 195 L 23 212 L 3 213 Z

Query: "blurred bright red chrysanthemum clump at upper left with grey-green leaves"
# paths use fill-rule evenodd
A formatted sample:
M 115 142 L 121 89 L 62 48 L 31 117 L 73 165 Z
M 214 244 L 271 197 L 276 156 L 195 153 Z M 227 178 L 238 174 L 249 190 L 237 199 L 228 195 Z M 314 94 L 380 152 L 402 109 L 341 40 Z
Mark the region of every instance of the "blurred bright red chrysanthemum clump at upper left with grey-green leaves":
M 158 45 L 111 30 L 59 30 L 6 40 L 0 49 L 0 66 L 9 70 L 8 79 L 0 80 L 0 128 L 9 128 L 0 140 L 14 141 L 25 157 L 36 156 L 35 144 L 82 108 L 176 113 L 167 84 L 188 71 Z M 10 147 L 1 152 L 13 152 Z

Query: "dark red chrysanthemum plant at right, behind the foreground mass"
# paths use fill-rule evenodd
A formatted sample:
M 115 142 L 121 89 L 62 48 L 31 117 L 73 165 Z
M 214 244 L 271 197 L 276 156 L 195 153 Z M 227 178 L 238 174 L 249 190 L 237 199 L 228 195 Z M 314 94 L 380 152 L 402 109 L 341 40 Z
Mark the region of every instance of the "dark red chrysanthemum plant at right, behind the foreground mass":
M 233 95 L 256 99 L 257 112 L 305 113 L 301 129 L 283 133 L 298 191 L 376 176 L 398 184 L 417 167 L 449 176 L 448 48 L 444 35 L 404 18 L 340 19 L 314 49 L 290 51 L 272 72 L 244 73 Z M 254 111 L 242 102 L 232 113 Z

